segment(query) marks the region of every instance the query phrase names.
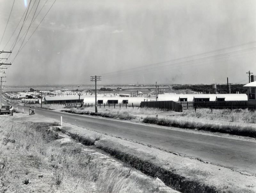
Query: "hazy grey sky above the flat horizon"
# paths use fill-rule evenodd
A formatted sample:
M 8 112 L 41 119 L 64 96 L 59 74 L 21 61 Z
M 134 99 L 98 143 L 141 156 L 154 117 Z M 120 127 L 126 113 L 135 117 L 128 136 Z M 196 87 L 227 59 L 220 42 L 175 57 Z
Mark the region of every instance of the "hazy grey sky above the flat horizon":
M 254 0 L 29 1 L 0 0 L 0 50 L 13 49 L 0 54 L 12 62 L 6 85 L 91 84 L 92 75 L 105 85 L 247 83 L 248 70 L 256 75 Z

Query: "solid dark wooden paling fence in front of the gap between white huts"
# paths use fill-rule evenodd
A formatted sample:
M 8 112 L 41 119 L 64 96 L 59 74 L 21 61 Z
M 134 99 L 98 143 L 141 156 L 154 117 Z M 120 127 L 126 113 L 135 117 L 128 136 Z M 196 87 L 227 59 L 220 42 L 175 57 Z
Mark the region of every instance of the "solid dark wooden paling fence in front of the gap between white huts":
M 166 109 L 168 111 L 182 112 L 182 105 L 174 101 L 145 101 L 141 102 L 141 108 L 159 108 Z

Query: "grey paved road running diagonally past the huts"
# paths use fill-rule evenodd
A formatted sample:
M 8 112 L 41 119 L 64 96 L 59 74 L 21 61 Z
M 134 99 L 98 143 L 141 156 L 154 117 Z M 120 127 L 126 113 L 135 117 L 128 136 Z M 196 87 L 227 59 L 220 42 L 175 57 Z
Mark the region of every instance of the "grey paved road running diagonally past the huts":
M 15 106 L 15 105 L 14 105 Z M 20 107 L 19 107 L 20 108 Z M 28 108 L 24 107 L 24 110 Z M 80 116 L 56 111 L 36 109 L 36 114 L 60 119 L 64 122 L 90 128 L 98 132 L 140 141 L 155 147 L 234 168 L 256 173 L 256 141 L 228 139 L 204 133 L 163 129 L 154 125 L 136 125 L 124 121 Z

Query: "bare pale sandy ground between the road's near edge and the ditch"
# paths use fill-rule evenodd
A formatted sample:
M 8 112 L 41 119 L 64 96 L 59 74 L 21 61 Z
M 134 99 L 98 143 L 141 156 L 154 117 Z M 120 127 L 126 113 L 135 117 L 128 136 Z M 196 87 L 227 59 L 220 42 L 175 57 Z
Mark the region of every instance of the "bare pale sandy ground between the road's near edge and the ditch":
M 14 116 L 16 117 L 15 121 L 56 121 L 55 119 L 45 118 L 38 115 L 28 116 L 23 114 L 14 114 Z M 199 180 L 205 184 L 213 185 L 222 192 L 256 192 L 256 177 L 246 172 L 240 173 L 229 168 L 215 166 L 195 159 L 190 159 L 188 157 L 176 155 L 175 153 L 171 154 L 154 147 L 148 147 L 147 145 L 140 144 L 139 142 L 136 143 L 127 139 L 116 138 L 114 136 L 94 132 L 76 125 L 64 123 L 62 128 L 68 128 L 68 130 L 73 133 L 91 137 L 100 135 L 100 139 L 108 140 L 109 143 L 112 143 L 113 145 L 122 144 L 125 148 L 136 151 L 142 156 L 155 156 L 154 162 L 161 165 L 163 168 L 174 170 L 176 174 L 185 176 L 189 179 Z M 100 143 L 100 141 L 101 140 L 97 141 L 96 145 L 97 143 Z

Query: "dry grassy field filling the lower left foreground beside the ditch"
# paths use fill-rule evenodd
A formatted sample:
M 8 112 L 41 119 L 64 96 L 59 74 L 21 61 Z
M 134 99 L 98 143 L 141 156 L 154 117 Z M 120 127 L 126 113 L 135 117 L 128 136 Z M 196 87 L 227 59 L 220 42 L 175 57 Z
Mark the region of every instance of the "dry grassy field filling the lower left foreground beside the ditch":
M 61 144 L 52 123 L 15 123 L 0 118 L 0 192 L 134 192 L 157 186 L 84 151 L 81 144 Z M 94 140 L 99 140 L 95 136 Z M 142 189 L 140 189 L 142 188 Z

